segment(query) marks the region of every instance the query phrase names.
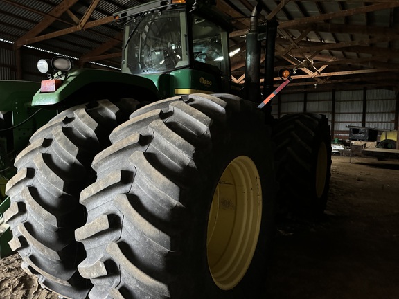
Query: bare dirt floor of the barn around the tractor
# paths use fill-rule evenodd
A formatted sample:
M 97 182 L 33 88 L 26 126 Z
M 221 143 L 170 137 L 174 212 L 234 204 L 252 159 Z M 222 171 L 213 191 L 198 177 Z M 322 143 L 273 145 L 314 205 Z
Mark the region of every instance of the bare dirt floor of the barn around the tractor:
M 399 298 L 399 162 L 333 156 L 331 172 L 323 221 L 279 231 L 266 298 Z M 20 263 L 0 260 L 1 299 L 57 298 Z

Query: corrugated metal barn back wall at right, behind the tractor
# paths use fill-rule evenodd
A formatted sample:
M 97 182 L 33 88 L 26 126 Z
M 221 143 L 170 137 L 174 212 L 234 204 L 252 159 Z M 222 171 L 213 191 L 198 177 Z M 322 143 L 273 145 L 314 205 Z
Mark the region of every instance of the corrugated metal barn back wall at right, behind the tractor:
M 332 138 L 348 139 L 348 126 L 378 129 L 379 135 L 397 129 L 398 107 L 395 91 L 385 89 L 282 93 L 272 102 L 272 114 L 274 118 L 297 112 L 325 114 Z

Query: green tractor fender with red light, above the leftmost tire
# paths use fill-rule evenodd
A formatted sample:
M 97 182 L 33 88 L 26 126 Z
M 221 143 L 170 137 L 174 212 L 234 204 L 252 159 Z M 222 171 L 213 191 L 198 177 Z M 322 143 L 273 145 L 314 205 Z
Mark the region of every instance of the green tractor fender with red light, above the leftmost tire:
M 147 78 L 116 71 L 78 69 L 71 71 L 56 91 L 37 91 L 32 105 L 64 110 L 103 98 L 127 97 L 150 102 L 161 99 L 154 82 Z

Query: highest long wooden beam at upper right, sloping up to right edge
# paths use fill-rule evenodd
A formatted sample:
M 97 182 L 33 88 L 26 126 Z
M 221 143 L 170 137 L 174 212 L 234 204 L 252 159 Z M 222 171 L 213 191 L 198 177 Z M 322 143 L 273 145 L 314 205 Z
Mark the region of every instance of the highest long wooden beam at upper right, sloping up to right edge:
M 296 19 L 292 21 L 281 22 L 278 28 L 292 28 L 301 24 L 310 24 L 328 19 L 336 19 L 339 17 L 348 17 L 353 15 L 364 14 L 366 12 L 373 12 L 378 10 L 385 10 L 389 8 L 396 8 L 399 6 L 399 1 L 389 1 L 388 3 L 378 3 L 371 6 L 362 6 L 359 8 L 351 8 L 339 12 L 330 12 L 324 15 L 317 15 L 312 17 L 305 17 L 303 19 Z

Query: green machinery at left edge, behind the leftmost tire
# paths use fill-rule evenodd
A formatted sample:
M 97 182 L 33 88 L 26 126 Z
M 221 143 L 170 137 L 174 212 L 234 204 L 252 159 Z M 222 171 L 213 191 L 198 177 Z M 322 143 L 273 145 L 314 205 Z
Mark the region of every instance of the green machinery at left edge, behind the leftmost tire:
M 10 207 L 5 188 L 8 179 L 17 172 L 15 156 L 29 143 L 29 137 L 55 116 L 31 106 L 33 95 L 39 89 L 37 82 L 0 80 L 0 258 L 10 255 L 10 226 L 3 213 Z

